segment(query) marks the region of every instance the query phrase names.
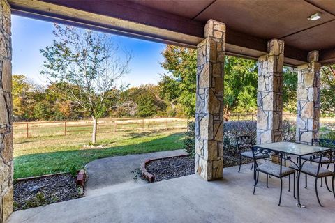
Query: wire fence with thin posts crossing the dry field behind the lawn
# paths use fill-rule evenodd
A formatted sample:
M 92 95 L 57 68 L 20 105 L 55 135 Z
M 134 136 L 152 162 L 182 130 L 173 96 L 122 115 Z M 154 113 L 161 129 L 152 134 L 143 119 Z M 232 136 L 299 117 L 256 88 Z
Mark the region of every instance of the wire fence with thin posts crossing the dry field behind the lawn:
M 92 121 L 45 121 L 13 123 L 14 138 L 48 137 L 92 132 Z M 126 130 L 170 130 L 186 128 L 187 118 L 102 118 L 97 133 Z

